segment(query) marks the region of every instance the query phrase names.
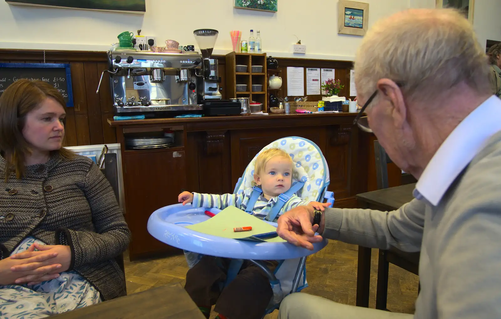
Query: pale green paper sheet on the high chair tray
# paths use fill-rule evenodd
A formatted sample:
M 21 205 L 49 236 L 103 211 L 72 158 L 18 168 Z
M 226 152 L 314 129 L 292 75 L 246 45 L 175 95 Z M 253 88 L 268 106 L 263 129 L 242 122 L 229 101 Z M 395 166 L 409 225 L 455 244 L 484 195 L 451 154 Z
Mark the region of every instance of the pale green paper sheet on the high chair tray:
M 235 227 L 252 226 L 250 231 L 233 231 Z M 242 239 L 260 233 L 276 231 L 277 227 L 253 216 L 245 211 L 229 206 L 219 211 L 215 216 L 193 224 L 188 225 L 186 228 L 206 233 L 213 236 L 224 238 Z M 282 242 L 285 241 L 280 237 L 264 239 L 269 242 Z

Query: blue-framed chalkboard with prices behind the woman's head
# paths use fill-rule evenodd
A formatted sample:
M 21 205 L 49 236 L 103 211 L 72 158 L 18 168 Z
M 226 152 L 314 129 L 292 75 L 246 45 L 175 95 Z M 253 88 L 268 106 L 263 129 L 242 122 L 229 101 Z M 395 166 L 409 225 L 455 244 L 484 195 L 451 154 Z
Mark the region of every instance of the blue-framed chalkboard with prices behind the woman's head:
M 57 63 L 0 63 L 0 95 L 21 78 L 45 81 L 58 89 L 66 106 L 73 107 L 70 64 Z

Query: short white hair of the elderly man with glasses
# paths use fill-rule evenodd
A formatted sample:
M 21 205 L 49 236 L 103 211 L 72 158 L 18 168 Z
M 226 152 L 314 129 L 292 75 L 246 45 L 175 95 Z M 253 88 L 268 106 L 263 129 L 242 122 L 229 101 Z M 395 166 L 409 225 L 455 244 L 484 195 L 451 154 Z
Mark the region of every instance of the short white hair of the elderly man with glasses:
M 433 99 L 460 82 L 489 93 L 488 65 L 471 24 L 454 9 L 411 9 L 376 22 L 355 59 L 359 95 L 380 78 L 402 83 L 407 99 Z

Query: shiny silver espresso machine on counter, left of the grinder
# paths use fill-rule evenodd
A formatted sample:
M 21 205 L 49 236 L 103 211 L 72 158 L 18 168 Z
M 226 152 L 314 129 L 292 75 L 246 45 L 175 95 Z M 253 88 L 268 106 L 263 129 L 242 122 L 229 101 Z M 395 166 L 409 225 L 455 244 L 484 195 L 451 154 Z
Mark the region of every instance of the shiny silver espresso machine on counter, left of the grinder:
M 197 102 L 198 53 L 108 51 L 111 93 L 117 115 L 202 110 Z M 99 91 L 99 86 L 97 91 Z

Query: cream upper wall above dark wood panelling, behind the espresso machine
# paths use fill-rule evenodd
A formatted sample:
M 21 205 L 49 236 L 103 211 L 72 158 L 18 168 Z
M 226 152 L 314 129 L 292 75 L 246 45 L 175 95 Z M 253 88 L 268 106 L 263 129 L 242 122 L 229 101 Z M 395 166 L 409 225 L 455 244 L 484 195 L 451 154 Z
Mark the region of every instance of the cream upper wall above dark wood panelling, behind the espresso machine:
M 364 0 L 370 4 L 369 26 L 377 19 L 406 9 L 410 1 Z M 434 0 L 432 0 L 434 1 Z M 482 0 L 477 0 L 482 1 Z M 498 0 L 492 0 L 498 1 Z M 337 34 L 337 0 L 280 0 L 278 12 L 233 7 L 234 0 L 146 0 L 146 13 L 10 5 L 0 0 L 0 47 L 107 50 L 118 33 L 129 30 L 195 44 L 197 28 L 219 30 L 215 53 L 231 50 L 229 31 L 260 29 L 263 48 L 276 56 L 294 56 L 291 45 L 299 36 L 307 57 L 351 60 L 361 36 Z M 313 53 L 313 54 L 312 54 Z M 304 55 L 299 55 L 301 57 Z

